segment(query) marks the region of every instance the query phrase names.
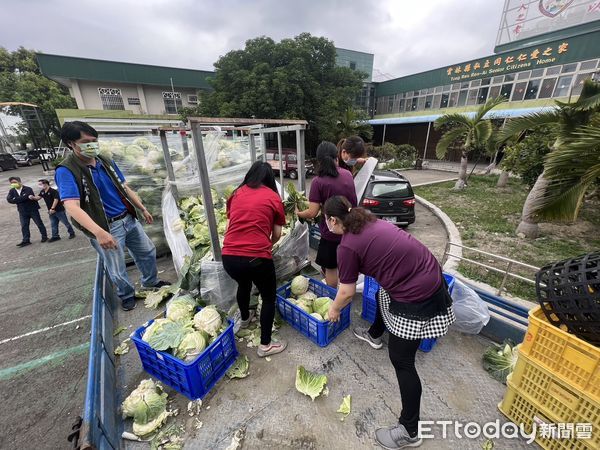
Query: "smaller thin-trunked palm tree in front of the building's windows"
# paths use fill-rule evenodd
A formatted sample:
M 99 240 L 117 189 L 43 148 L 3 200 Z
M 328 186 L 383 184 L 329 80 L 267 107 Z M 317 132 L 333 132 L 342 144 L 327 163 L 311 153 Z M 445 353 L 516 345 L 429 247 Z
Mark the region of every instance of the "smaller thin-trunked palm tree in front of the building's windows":
M 484 119 L 484 116 L 505 101 L 506 98 L 503 96 L 491 98 L 475 111 L 473 117 L 469 117 L 467 114 L 453 113 L 444 114 L 436 119 L 435 129 L 446 130 L 435 148 L 439 159 L 446 156 L 450 145 L 457 142 L 462 143 L 460 170 L 454 189 L 464 189 L 467 185 L 468 154 L 475 149 L 484 150 L 490 147 L 489 140 L 492 137 L 493 127 L 491 120 Z

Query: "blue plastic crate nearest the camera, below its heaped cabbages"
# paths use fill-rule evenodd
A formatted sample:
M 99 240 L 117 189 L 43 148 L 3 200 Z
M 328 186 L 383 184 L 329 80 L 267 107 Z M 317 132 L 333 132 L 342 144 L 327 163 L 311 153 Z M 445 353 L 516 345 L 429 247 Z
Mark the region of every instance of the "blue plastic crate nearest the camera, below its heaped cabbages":
M 238 351 L 233 335 L 233 322 L 198 357 L 184 362 L 166 352 L 159 352 L 142 340 L 146 328 L 138 328 L 131 336 L 144 370 L 190 400 L 203 398 L 235 362 Z

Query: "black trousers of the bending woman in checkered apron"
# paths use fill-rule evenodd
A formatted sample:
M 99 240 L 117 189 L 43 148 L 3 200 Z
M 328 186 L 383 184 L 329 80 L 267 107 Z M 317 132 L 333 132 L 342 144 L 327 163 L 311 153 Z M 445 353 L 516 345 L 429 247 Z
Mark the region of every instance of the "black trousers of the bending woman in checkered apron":
M 369 334 L 374 338 L 378 338 L 383 335 L 384 331 L 385 323 L 381 316 L 378 301 L 375 322 L 369 328 Z M 423 388 L 415 367 L 415 356 L 421 344 L 421 339 L 403 339 L 392 333 L 388 333 L 388 335 L 390 361 L 396 371 L 396 378 L 400 387 L 400 398 L 402 399 L 402 412 L 398 422 L 404 425 L 411 437 L 416 436 L 419 428 Z

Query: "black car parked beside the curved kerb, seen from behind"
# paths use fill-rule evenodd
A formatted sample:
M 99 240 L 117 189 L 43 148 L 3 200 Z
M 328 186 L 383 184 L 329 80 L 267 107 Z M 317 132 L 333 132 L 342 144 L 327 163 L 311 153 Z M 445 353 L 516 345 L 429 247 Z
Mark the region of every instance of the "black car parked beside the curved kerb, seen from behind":
M 410 182 L 392 171 L 375 172 L 365 189 L 360 205 L 377 216 L 401 227 L 415 222 L 415 194 Z

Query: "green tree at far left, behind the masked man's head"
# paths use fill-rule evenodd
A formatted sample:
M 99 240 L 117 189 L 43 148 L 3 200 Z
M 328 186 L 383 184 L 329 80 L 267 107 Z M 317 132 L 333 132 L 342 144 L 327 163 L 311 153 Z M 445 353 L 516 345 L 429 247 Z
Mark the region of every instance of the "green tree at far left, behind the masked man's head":
M 35 52 L 23 47 L 13 52 L 0 47 L 0 98 L 6 102 L 33 103 L 39 106 L 44 121 L 55 138 L 59 134 L 55 110 L 77 107 L 65 87 L 40 73 Z M 8 112 L 18 114 L 15 108 Z

